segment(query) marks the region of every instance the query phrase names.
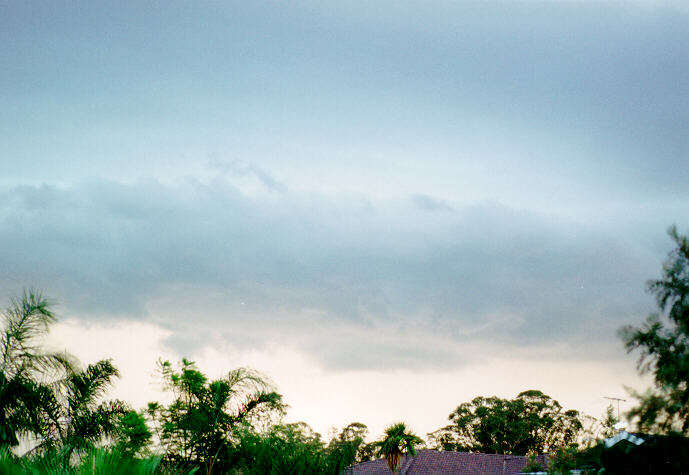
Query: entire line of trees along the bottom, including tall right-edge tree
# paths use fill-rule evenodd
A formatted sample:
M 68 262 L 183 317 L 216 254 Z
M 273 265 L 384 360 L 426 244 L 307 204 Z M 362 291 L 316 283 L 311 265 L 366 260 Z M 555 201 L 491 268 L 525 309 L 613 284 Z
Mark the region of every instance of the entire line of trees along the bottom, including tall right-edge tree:
M 283 422 L 282 396 L 261 374 L 238 368 L 211 380 L 189 360 L 158 363 L 172 402 L 135 410 L 104 399 L 118 377 L 110 360 L 83 367 L 69 353 L 41 347 L 55 316 L 39 293 L 25 292 L 3 314 L 0 473 L 341 473 L 380 456 L 394 471 L 405 452 L 424 446 L 546 453 L 553 456 L 549 469 L 560 472 L 688 473 L 689 239 L 674 227 L 669 233 L 676 247 L 662 278 L 648 283 L 660 311 L 620 332 L 629 351 L 640 351 L 640 370 L 655 380 L 633 394 L 637 406 L 629 413 L 638 430 L 662 434 L 641 449 L 601 444 L 616 432 L 612 407 L 596 420 L 536 390 L 462 403 L 425 442 L 401 423 L 367 442 L 368 429 L 359 422 L 325 440 L 305 423 Z

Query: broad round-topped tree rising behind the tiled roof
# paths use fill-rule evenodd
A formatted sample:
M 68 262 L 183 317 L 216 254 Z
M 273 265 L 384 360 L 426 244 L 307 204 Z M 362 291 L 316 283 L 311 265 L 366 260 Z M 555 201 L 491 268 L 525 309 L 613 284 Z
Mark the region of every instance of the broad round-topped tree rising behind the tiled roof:
M 568 447 L 583 425 L 578 411 L 562 409 L 541 391 L 515 399 L 476 397 L 448 416 L 451 424 L 429 434 L 442 450 L 491 454 L 535 455 Z

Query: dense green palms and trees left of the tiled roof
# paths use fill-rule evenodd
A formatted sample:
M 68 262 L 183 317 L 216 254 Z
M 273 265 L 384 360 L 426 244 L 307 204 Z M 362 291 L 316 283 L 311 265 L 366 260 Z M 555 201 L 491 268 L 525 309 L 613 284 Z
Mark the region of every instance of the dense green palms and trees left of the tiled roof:
M 0 473 L 340 473 L 374 456 L 363 424 L 326 442 L 306 424 L 282 423 L 282 396 L 246 368 L 210 380 L 186 359 L 160 361 L 170 404 L 137 411 L 106 400 L 117 368 L 44 351 L 40 338 L 54 322 L 36 292 L 4 313 Z

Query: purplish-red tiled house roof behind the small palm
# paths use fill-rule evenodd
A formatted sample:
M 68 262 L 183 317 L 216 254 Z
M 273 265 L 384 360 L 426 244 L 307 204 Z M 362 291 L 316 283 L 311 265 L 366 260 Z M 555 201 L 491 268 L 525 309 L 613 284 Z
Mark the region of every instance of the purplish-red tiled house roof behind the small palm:
M 403 457 L 400 475 L 426 475 L 456 473 L 466 475 L 513 475 L 529 462 L 520 455 L 475 454 L 468 452 L 440 452 L 419 450 L 414 457 Z M 547 469 L 545 455 L 536 457 L 535 462 Z M 348 475 L 390 474 L 384 459 L 362 462 L 345 470 Z

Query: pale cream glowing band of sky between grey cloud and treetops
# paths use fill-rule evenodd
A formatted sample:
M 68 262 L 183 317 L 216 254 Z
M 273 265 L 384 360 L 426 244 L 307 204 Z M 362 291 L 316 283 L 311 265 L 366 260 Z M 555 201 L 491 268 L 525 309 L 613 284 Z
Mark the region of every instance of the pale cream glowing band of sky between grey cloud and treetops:
M 603 396 L 631 400 L 623 386 L 643 389 L 648 378 L 637 375 L 632 356 L 619 361 L 570 361 L 531 351 L 529 358 L 486 356 L 478 363 L 457 369 L 333 371 L 287 346 L 269 351 L 237 351 L 207 346 L 192 355 L 178 355 L 167 348 L 170 332 L 140 322 L 85 324 L 66 320 L 56 324 L 48 345 L 67 349 L 83 364 L 112 358 L 121 372 L 109 397 L 123 399 L 135 408 L 149 401 L 166 401 L 155 377 L 158 358 L 177 361 L 187 356 L 209 377 L 219 377 L 238 366 L 248 366 L 268 376 L 289 405 L 286 421 L 304 421 L 327 437 L 329 431 L 350 422 L 362 422 L 369 438 L 404 421 L 422 437 L 447 423 L 448 414 L 476 396 L 512 398 L 527 389 L 539 389 L 557 399 L 565 409 L 600 417 L 609 401 Z M 535 356 L 533 356 L 535 355 Z

